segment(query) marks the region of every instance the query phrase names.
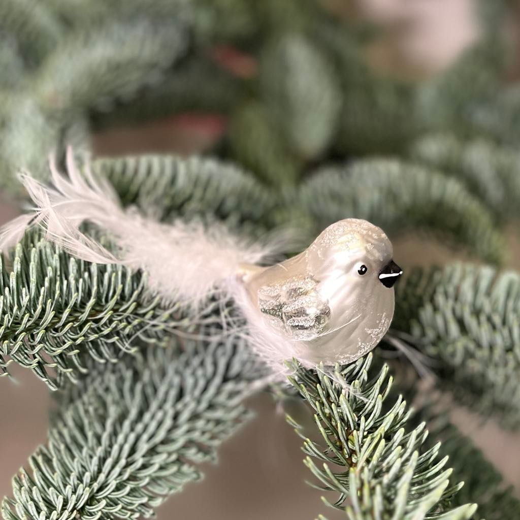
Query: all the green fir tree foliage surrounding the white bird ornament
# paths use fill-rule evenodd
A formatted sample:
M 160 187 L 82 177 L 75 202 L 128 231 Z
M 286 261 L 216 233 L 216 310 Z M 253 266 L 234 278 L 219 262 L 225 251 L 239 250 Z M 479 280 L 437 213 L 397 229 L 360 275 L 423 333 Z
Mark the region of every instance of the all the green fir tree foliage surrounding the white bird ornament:
M 310 239 L 357 217 L 391 238 L 420 230 L 462 248 L 485 265 L 407 272 L 391 333 L 427 356 L 453 400 L 518 428 L 520 275 L 498 271 L 520 200 L 508 8 L 480 0 L 480 40 L 422 79 L 376 70 L 365 50 L 377 28 L 337 16 L 334 2 L 4 0 L 0 187 L 21 197 L 18 169 L 45 179 L 49 152 L 60 162 L 66 145 L 84 161 L 98 129 L 216 113 L 217 158 L 90 166 L 124 205 L 166 223 L 219 220 L 249 237 L 292 226 Z M 36 231 L 0 252 L 0 374 L 16 362 L 59 390 L 3 518 L 150 517 L 250 416 L 241 402 L 266 368 L 244 338 L 194 330 L 146 287 L 146 274 L 79 261 Z M 180 341 L 179 329 L 199 337 Z M 334 374 L 289 361 L 322 440 L 290 422 L 332 505 L 350 520 L 517 518 L 492 463 L 443 411 L 413 412 L 398 392 L 411 401 L 418 388 L 396 385 L 399 365 L 379 353 Z

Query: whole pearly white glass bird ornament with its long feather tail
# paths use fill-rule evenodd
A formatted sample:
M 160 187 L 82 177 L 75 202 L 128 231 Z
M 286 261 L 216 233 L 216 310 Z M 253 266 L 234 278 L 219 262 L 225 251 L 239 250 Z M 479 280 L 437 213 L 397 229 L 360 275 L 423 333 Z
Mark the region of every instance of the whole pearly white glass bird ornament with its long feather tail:
M 390 326 L 393 285 L 402 271 L 385 233 L 366 220 L 340 220 L 302 253 L 261 267 L 272 244 L 248 245 L 222 226 L 163 224 L 124 209 L 88 165 L 79 171 L 70 150 L 68 177 L 52 162 L 50 170 L 54 187 L 20 176 L 36 207 L 3 228 L 0 250 L 38 225 L 73 256 L 146 271 L 149 291 L 166 302 L 185 302 L 194 310 L 216 291 L 231 297 L 246 319 L 253 349 L 280 374 L 293 357 L 306 367 L 355 361 Z M 113 252 L 80 231 L 84 222 L 108 233 Z

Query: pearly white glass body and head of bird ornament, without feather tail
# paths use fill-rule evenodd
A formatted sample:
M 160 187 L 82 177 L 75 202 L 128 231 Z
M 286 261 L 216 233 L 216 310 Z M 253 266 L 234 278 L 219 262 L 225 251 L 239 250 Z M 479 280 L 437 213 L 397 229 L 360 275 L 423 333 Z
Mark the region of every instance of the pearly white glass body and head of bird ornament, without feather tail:
M 390 326 L 392 285 L 400 274 L 392 255 L 380 228 L 345 219 L 304 252 L 245 270 L 243 282 L 265 326 L 292 345 L 294 357 L 310 364 L 346 363 L 369 352 Z

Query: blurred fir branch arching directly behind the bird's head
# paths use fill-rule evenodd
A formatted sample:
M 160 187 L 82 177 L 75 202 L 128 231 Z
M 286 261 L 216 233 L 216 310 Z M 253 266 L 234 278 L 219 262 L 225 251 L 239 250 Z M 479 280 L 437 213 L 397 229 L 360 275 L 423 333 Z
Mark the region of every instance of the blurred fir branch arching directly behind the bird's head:
M 396 159 L 324 168 L 303 184 L 298 202 L 321 228 L 365 218 L 391 236 L 425 229 L 499 263 L 505 244 L 486 208 L 456 179 Z

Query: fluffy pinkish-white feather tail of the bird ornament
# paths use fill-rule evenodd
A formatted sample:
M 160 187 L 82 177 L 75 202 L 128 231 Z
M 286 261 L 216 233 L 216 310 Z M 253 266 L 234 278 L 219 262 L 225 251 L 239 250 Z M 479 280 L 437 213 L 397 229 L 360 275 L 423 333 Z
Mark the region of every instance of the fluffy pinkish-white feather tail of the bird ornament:
M 269 246 L 247 243 L 222 225 L 208 228 L 180 220 L 166 225 L 146 218 L 135 208 L 123 209 L 112 187 L 95 178 L 88 165 L 82 175 L 70 149 L 68 177 L 53 161 L 50 170 L 53 188 L 29 174 L 20 176 L 35 207 L 32 214 L 3 229 L 0 249 L 16 243 L 28 225 L 40 225 L 46 229 L 48 240 L 71 255 L 88 262 L 142 269 L 148 273 L 151 292 L 194 307 L 215 289 L 228 291 L 242 264 L 258 263 L 276 252 L 276 241 Z M 84 222 L 107 232 L 115 252 L 80 231 Z

